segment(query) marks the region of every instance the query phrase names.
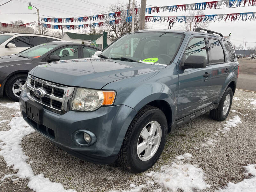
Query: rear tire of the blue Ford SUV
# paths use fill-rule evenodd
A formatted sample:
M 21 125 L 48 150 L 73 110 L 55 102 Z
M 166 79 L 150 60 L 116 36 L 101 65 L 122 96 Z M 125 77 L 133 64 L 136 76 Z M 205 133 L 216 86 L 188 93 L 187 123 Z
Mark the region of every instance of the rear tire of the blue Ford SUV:
M 228 94 L 230 95 L 229 107 L 223 108 L 224 102 L 225 102 Z M 228 117 L 228 114 L 229 114 L 229 111 L 230 111 L 230 108 L 232 105 L 232 100 L 233 100 L 233 91 L 230 87 L 228 87 L 220 100 L 220 104 L 219 104 L 218 108 L 210 111 L 211 118 L 214 120 L 217 120 L 217 121 L 224 121 Z

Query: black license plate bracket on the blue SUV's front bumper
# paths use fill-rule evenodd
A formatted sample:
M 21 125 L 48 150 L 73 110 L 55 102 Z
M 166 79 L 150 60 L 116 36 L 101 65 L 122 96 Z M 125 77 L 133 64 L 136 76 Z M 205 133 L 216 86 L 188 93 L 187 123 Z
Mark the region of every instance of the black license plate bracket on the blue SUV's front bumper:
M 35 121 L 37 124 L 42 124 L 44 111 L 43 106 L 31 100 L 27 100 L 25 103 L 27 117 Z

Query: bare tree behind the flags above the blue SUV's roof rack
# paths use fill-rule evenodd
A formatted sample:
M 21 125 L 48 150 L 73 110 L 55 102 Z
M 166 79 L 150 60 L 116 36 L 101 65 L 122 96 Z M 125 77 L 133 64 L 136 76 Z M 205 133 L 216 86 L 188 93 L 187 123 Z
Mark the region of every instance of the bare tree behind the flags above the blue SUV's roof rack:
M 195 15 L 204 15 L 203 10 L 189 10 L 188 11 L 188 15 L 184 15 L 184 16 L 195 16 Z M 186 31 L 195 31 L 196 28 L 208 28 L 209 26 L 209 21 L 201 21 L 201 22 L 196 22 L 196 20 L 194 19 L 194 17 L 189 18 L 187 20 L 187 22 L 183 23 L 182 28 Z

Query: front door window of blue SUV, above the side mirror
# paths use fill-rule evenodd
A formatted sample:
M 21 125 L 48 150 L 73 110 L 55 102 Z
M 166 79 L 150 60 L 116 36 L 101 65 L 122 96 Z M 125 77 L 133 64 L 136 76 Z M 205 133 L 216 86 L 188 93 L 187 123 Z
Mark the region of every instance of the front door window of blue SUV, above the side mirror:
M 204 38 L 193 38 L 189 41 L 185 51 L 185 58 L 189 55 L 204 56 L 207 60 L 206 43 Z

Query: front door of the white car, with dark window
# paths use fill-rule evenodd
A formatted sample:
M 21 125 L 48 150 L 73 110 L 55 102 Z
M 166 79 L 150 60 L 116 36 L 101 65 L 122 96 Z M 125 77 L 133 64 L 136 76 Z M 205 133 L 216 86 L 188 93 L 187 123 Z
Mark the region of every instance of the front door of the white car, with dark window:
M 8 43 L 15 44 L 16 48 L 6 48 L 5 47 L 4 48 L 5 55 L 11 55 L 11 54 L 14 54 L 14 53 L 19 53 L 19 52 L 21 52 L 21 51 L 23 51 L 25 49 L 30 48 L 30 43 L 29 43 L 28 36 L 18 36 L 18 37 L 15 37 L 11 41 L 9 41 Z

